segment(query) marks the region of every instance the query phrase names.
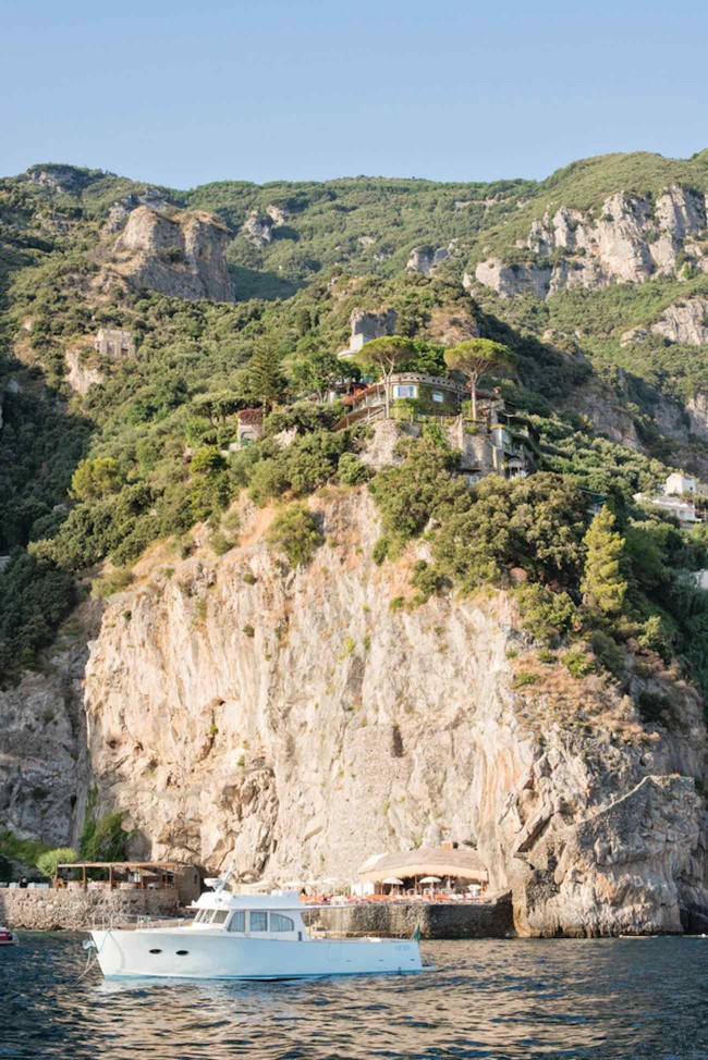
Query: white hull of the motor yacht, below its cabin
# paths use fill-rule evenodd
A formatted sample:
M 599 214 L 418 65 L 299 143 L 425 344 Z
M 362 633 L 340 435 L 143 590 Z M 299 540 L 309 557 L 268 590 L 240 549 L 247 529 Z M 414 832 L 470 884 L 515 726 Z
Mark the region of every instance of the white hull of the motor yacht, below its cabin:
M 91 932 L 107 978 L 285 979 L 420 972 L 415 939 L 257 939 L 149 928 Z

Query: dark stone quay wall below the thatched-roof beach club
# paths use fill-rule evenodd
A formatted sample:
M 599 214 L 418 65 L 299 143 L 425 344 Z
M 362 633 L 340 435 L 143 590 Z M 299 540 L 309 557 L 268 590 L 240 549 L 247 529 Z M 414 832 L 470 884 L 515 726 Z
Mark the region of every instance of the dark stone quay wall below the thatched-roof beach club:
M 422 938 L 504 938 L 514 934 L 511 898 L 497 902 L 366 902 L 313 910 L 315 926 L 338 935 L 405 938 L 420 928 Z

